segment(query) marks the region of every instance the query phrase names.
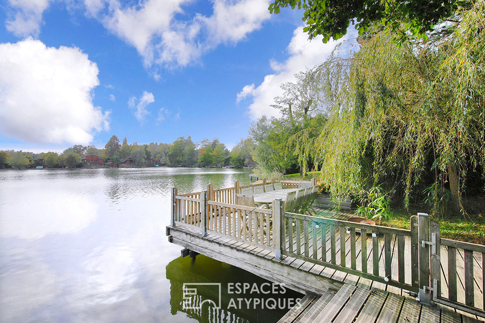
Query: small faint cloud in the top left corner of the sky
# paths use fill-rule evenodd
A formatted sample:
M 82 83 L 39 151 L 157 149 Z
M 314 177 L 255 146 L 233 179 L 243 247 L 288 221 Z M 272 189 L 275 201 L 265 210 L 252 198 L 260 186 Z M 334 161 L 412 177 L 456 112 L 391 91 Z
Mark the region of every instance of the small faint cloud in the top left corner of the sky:
M 5 27 L 16 36 L 38 36 L 42 24 L 42 13 L 50 0 L 9 0 L 8 19 Z

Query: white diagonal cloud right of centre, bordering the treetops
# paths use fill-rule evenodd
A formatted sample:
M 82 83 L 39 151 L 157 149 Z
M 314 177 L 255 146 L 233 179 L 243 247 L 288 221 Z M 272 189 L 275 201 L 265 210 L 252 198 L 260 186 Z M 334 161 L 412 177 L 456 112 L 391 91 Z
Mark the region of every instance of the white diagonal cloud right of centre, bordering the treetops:
M 254 84 L 246 85 L 237 94 L 237 102 L 246 97 L 252 98 L 252 103 L 248 107 L 252 119 L 257 119 L 263 115 L 278 116 L 279 111 L 272 108 L 271 105 L 274 104 L 273 98 L 282 94 L 280 84 L 294 81 L 293 75 L 305 71 L 306 67 L 311 68 L 323 63 L 338 43 L 357 36 L 356 30 L 351 25 L 347 29 L 347 34 L 341 39 L 323 44 L 321 36 L 310 42 L 302 29 L 303 26 L 293 31 L 293 37 L 287 47 L 290 57 L 284 62 L 270 61 L 270 66 L 275 73 L 266 75 L 258 87 L 255 87 Z M 346 45 L 341 47 L 341 51 L 349 49 L 350 47 Z

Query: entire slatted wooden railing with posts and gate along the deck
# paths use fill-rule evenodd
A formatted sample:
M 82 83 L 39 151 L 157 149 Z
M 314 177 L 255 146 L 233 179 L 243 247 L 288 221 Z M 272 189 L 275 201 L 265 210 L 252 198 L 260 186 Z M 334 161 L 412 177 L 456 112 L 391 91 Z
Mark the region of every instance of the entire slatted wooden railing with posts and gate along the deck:
M 419 213 L 411 230 L 236 205 L 234 187 L 178 195 L 172 189 L 172 226 L 188 226 L 274 250 L 340 272 L 417 292 L 421 303 L 440 303 L 485 317 L 485 246 L 442 239 L 439 223 Z M 229 201 L 229 202 L 226 202 Z

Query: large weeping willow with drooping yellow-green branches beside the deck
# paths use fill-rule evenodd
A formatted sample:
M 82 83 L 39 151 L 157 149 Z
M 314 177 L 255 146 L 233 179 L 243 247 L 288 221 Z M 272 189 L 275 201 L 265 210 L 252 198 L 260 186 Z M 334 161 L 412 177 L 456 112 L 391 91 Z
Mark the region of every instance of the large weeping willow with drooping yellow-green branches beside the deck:
M 435 208 L 446 190 L 464 211 L 467 176 L 483 176 L 485 161 L 485 2 L 456 18 L 427 41 L 401 46 L 375 31 L 352 57 L 319 66 L 328 121 L 318 137 L 306 129 L 292 139 L 334 196 L 363 197 L 382 185 L 402 192 L 407 207 L 425 183 Z

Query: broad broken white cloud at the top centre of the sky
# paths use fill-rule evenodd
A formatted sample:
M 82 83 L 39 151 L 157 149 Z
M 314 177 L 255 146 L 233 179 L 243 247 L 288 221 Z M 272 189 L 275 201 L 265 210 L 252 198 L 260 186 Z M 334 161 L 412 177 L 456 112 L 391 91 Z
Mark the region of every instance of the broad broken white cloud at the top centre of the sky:
M 212 15 L 177 20 L 192 0 L 85 0 L 89 15 L 134 46 L 146 66 L 186 66 L 223 43 L 237 43 L 270 18 L 269 0 L 214 0 Z

